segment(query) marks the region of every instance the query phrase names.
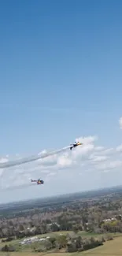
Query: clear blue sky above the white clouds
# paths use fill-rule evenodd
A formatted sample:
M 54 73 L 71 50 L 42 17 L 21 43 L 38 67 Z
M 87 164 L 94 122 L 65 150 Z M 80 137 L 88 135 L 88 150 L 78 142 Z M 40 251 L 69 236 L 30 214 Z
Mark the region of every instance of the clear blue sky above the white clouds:
M 2 157 L 88 135 L 121 143 L 121 9 L 120 0 L 0 3 Z

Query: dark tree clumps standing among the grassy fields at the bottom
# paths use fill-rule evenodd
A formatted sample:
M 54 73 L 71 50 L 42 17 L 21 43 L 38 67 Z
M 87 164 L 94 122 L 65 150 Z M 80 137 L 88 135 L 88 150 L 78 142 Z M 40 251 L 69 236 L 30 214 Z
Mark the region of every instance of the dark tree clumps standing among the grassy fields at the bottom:
M 108 237 L 107 240 L 113 239 Z M 67 236 L 56 236 L 50 237 L 49 239 L 44 240 L 43 242 L 34 243 L 31 245 L 31 250 L 35 252 L 45 252 L 47 250 L 59 251 L 64 249 L 65 252 L 79 252 L 83 250 L 89 250 L 94 247 L 102 246 L 105 242 L 104 237 L 102 239 L 94 238 L 82 238 L 77 236 L 74 233 L 68 233 Z M 20 246 L 21 247 L 21 246 Z M 16 251 L 16 247 L 12 245 L 5 245 L 1 248 L 2 251 Z

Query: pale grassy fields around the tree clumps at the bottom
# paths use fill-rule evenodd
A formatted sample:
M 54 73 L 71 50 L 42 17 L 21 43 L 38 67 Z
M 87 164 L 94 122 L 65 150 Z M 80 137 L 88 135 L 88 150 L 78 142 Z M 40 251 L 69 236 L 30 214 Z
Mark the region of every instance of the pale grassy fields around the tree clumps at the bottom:
M 66 234 L 68 232 L 52 232 L 52 233 L 49 233 L 49 234 L 46 234 L 45 236 L 59 236 L 61 234 Z M 79 232 L 79 235 L 80 236 L 83 236 L 83 237 L 87 237 L 87 236 L 94 236 L 96 237 L 97 235 L 96 234 L 92 234 L 92 233 L 88 233 L 88 232 Z M 34 244 L 31 244 L 31 245 L 24 245 L 21 249 L 19 249 L 19 242 L 20 240 L 13 240 L 11 242 L 8 242 L 8 244 L 13 244 L 13 246 L 15 246 L 16 248 L 18 248 L 18 251 L 17 252 L 13 252 L 13 253 L 6 253 L 6 252 L 0 252 L 0 256 L 4 255 L 4 256 L 20 256 L 20 255 L 23 255 L 23 256 L 35 256 L 35 255 L 39 255 L 39 256 L 47 256 L 47 255 L 50 255 L 50 256 L 80 256 L 80 255 L 83 255 L 83 254 L 86 254 L 87 256 L 94 256 L 94 255 L 104 255 L 104 256 L 107 256 L 107 255 L 122 255 L 122 234 L 119 234 L 119 233 L 116 233 L 116 234 L 111 234 L 112 236 L 118 236 L 116 237 L 113 241 L 108 241 L 108 242 L 105 242 L 103 246 L 101 247 L 97 247 L 95 249 L 91 249 L 91 250 L 86 250 L 82 253 L 65 253 L 65 252 L 58 252 L 58 253 L 46 253 L 46 252 L 43 252 L 43 253 L 32 253 L 31 252 L 31 248 L 34 247 Z M 101 236 L 101 235 L 98 235 L 98 236 Z M 102 235 L 105 237 L 105 235 Z M 43 235 L 40 235 L 39 237 L 44 237 Z M 1 243 L 1 247 L 3 247 L 5 244 L 7 243 Z M 20 250 L 20 251 L 19 251 Z

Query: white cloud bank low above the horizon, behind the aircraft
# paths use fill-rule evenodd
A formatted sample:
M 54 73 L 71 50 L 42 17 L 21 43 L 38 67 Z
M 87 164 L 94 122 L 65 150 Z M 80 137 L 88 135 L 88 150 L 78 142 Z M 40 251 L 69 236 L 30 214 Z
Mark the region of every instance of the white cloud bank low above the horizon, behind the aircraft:
M 122 117 L 120 117 L 120 120 L 122 120 Z M 26 165 L 0 169 L 1 190 L 33 187 L 31 178 L 43 179 L 45 181 L 43 186 L 46 186 L 46 188 L 47 186 L 51 187 L 50 184 L 53 184 L 55 189 L 56 187 L 70 185 L 73 190 L 73 184 L 79 184 L 80 187 L 80 184 L 84 182 L 87 186 L 91 182 L 92 184 L 97 183 L 96 179 L 98 178 L 96 177 L 101 180 L 103 173 L 107 179 L 109 179 L 111 173 L 115 173 L 113 182 L 116 185 L 116 173 L 121 173 L 122 169 L 122 144 L 116 145 L 116 147 L 104 147 L 98 143 L 98 136 L 96 135 L 85 138 L 79 137 L 76 140 L 82 142 L 83 146 L 76 147 L 72 151 L 69 149 L 61 150 L 59 154 L 50 155 L 48 158 L 40 158 Z M 46 154 L 46 150 L 39 152 L 39 155 L 42 154 Z M 0 163 L 6 163 L 9 160 L 9 156 L 6 156 L 6 158 L 0 159 Z M 102 187 L 104 184 L 105 180 L 102 180 Z

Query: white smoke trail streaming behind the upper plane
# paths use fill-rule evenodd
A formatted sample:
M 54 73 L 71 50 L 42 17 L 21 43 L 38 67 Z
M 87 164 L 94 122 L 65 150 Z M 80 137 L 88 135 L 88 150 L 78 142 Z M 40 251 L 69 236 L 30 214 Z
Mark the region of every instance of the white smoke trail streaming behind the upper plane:
M 55 150 L 55 151 L 52 151 L 50 153 L 46 153 L 46 154 L 42 154 L 42 155 L 33 155 L 31 157 L 22 158 L 22 159 L 18 159 L 18 160 L 15 160 L 15 161 L 7 161 L 7 162 L 4 162 L 4 163 L 0 164 L 0 169 L 9 168 L 11 166 L 16 166 L 16 165 L 23 165 L 23 164 L 29 163 L 31 161 L 36 161 L 36 160 L 39 160 L 39 159 L 42 159 L 42 158 L 47 158 L 47 157 L 50 157 L 54 154 L 59 154 L 59 153 L 65 151 L 65 150 L 68 150 L 69 147 L 70 146 L 63 147 L 60 150 Z

